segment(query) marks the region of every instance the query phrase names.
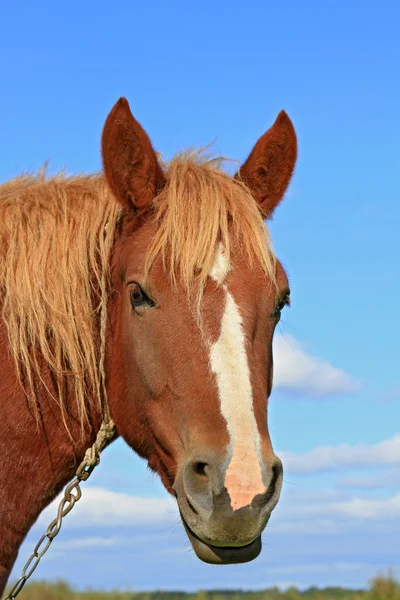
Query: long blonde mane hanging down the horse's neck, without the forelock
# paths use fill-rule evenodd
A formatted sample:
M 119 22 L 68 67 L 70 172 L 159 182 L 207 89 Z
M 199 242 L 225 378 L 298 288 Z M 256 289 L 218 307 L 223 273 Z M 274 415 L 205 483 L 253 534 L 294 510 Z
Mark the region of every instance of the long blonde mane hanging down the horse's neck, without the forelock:
M 0 186 L 0 306 L 36 415 L 43 360 L 64 419 L 66 376 L 82 426 L 88 404 L 104 409 L 101 329 L 118 208 L 100 176 L 48 178 L 43 169 Z

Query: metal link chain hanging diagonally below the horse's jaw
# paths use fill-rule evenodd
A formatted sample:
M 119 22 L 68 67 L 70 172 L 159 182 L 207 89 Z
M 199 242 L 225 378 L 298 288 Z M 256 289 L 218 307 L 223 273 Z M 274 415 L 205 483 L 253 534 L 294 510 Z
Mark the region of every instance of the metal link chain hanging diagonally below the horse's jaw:
M 51 546 L 52 541 L 56 535 L 58 535 L 61 529 L 63 518 L 74 508 L 75 503 L 78 502 L 78 500 L 80 500 L 82 497 L 82 490 L 79 486 L 80 482 L 89 479 L 92 471 L 100 462 L 101 450 L 104 448 L 107 442 L 112 439 L 114 434 L 114 423 L 111 420 L 106 423 L 103 422 L 97 435 L 96 442 L 86 451 L 85 458 L 76 471 L 75 479 L 73 479 L 65 488 L 64 497 L 58 505 L 57 517 L 53 519 L 48 526 L 46 533 L 42 535 L 36 544 L 34 551 L 22 569 L 21 577 L 3 600 L 14 600 L 14 598 L 18 596 L 25 583 L 38 566 L 40 559 L 44 554 L 46 554 L 47 550 Z

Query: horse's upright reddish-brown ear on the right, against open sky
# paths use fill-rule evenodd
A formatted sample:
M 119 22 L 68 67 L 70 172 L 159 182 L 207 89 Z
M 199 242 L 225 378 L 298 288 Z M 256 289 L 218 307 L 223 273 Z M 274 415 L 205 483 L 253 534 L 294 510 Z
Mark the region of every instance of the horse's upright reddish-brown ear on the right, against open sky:
M 293 175 L 296 158 L 296 133 L 291 120 L 282 110 L 235 175 L 250 189 L 267 218 L 272 216 L 283 198 Z

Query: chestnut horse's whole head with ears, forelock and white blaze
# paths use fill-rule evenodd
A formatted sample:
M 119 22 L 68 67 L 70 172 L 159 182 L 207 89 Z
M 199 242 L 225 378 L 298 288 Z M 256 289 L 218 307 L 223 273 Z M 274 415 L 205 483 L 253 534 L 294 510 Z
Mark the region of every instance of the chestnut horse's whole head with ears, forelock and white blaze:
M 264 219 L 285 193 L 296 148 L 281 112 L 231 177 L 196 155 L 161 164 L 123 98 L 103 130 L 105 177 L 121 207 L 110 411 L 210 563 L 255 558 L 280 495 L 267 402 L 289 284 Z

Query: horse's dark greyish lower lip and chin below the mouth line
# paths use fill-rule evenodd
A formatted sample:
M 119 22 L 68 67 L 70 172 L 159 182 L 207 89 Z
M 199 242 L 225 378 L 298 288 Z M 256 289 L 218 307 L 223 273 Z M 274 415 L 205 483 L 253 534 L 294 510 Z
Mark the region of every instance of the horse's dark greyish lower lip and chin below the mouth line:
M 261 534 L 250 544 L 244 546 L 213 546 L 200 539 L 182 517 L 187 536 L 197 557 L 212 565 L 231 565 L 250 562 L 261 552 Z

